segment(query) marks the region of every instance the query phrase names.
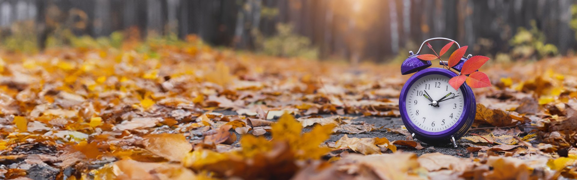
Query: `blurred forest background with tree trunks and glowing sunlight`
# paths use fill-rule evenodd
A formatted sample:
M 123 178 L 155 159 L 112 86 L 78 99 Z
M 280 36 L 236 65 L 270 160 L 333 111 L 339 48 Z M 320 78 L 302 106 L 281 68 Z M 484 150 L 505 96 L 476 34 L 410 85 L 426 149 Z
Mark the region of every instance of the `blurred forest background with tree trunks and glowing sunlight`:
M 282 57 L 390 62 L 425 39 L 448 37 L 471 54 L 525 61 L 574 53 L 576 2 L 0 0 L 0 48 L 119 47 L 129 38 L 193 34 L 212 46 Z

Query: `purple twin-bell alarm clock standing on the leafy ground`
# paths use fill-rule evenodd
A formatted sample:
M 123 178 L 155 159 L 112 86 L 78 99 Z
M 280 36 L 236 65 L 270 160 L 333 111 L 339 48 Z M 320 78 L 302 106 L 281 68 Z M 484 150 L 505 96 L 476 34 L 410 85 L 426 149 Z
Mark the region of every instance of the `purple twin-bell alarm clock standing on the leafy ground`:
M 403 85 L 399 96 L 400 117 L 411 136 L 428 144 L 452 143 L 457 147 L 459 140 L 475 119 L 476 102 L 471 88 L 464 83 L 455 90 L 449 79 L 459 76 L 451 70 L 430 67 L 431 61 L 423 61 L 417 56 L 423 46 L 433 40 L 455 42 L 444 37 L 425 40 L 416 54 L 409 51 L 409 57 L 401 65 L 401 74 L 413 74 Z M 455 42 L 456 46 L 459 43 Z M 471 55 L 462 57 L 452 69 L 460 72 L 463 63 Z M 440 61 L 440 65 L 448 65 Z

